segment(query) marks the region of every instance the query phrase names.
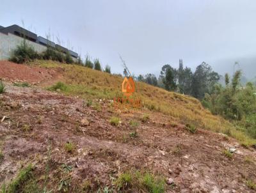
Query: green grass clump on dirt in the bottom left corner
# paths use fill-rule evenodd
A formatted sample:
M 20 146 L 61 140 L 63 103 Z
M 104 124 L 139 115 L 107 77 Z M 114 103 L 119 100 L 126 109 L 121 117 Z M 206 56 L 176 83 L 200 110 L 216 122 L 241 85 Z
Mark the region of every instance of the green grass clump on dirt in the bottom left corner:
M 31 178 L 32 171 L 33 171 L 32 164 L 29 164 L 27 167 L 21 169 L 17 177 L 14 178 L 7 187 L 6 185 L 4 185 L 5 187 L 3 192 L 8 192 L 8 193 L 20 192 L 19 191 L 20 187 Z

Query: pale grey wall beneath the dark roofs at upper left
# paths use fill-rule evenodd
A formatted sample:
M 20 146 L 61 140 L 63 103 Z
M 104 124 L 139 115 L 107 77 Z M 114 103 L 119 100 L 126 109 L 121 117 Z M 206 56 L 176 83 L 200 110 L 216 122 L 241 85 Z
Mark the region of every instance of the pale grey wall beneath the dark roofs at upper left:
M 20 36 L 13 35 L 8 33 L 8 35 L 4 33 L 0 33 L 0 60 L 8 60 L 12 55 L 12 51 L 22 43 L 23 38 Z M 26 42 L 31 45 L 36 52 L 42 53 L 44 52 L 47 47 L 35 42 L 31 42 L 26 40 Z M 77 59 L 72 57 L 72 59 L 76 62 Z

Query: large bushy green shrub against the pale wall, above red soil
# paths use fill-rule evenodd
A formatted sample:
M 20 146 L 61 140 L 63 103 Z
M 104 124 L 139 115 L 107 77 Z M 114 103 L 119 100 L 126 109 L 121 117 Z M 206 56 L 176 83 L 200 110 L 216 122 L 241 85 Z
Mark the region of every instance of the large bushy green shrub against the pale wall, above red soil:
M 33 47 L 24 40 L 15 50 L 13 50 L 10 61 L 15 63 L 28 63 L 36 58 L 39 58 L 39 54 L 37 54 Z

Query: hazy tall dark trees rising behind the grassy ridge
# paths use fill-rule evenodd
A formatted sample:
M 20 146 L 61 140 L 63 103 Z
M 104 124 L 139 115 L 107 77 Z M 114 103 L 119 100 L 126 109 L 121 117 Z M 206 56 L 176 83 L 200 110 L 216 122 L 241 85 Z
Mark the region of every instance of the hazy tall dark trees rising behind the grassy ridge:
M 220 75 L 205 62 L 197 66 L 193 73 L 191 68 L 184 68 L 183 61 L 180 59 L 178 69 L 171 65 L 163 65 L 158 79 L 152 73 L 139 75 L 136 79 L 168 91 L 191 95 L 202 100 L 205 93 L 212 92 L 212 87 L 220 80 Z

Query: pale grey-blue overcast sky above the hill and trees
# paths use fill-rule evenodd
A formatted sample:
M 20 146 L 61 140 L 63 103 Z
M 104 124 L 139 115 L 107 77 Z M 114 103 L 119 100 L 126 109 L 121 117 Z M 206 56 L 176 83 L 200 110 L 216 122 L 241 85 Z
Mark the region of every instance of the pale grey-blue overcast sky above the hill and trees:
M 239 58 L 256 58 L 255 0 L 1 0 L 0 26 L 22 20 L 113 72 L 123 71 L 118 54 L 136 75 L 157 74 L 166 63 L 177 67 L 180 58 L 193 70 L 205 61 L 218 72 Z

